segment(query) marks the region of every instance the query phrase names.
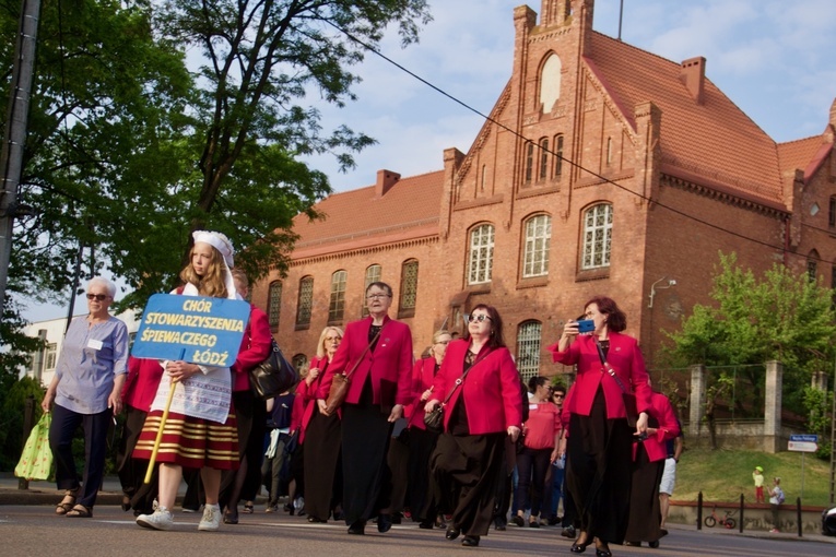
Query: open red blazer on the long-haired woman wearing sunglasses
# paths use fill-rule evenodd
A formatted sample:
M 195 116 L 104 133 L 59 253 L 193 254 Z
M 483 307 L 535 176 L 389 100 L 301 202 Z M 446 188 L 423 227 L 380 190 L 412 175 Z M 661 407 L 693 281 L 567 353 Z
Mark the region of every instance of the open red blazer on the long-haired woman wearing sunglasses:
M 456 380 L 464 371 L 464 356 L 470 341 L 454 341 L 433 382 L 433 400 L 444 402 Z M 508 348 L 483 346 L 464 382 L 456 389 L 444 413 L 447 429 L 451 408 L 464 398 L 468 425 L 472 435 L 498 434 L 510 426 L 522 429 L 522 386 Z

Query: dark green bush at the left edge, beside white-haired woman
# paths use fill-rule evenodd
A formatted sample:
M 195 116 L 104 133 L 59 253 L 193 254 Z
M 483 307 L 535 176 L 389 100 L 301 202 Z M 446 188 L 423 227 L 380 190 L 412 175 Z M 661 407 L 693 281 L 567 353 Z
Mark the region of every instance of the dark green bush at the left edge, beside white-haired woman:
M 20 380 L 11 374 L 0 376 L 0 471 L 7 472 L 17 464 L 23 449 L 23 419 L 26 400 L 32 396 L 33 422 L 40 417 L 44 389 L 33 379 Z

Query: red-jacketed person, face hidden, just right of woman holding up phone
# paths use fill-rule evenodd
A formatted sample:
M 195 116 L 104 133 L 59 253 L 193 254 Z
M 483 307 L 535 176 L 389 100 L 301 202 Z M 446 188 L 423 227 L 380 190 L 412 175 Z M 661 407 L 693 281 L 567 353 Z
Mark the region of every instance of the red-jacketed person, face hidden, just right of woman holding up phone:
M 668 457 L 668 440 L 680 435 L 673 406 L 662 393 L 650 395 L 647 439 L 633 443 L 633 486 L 629 491 L 629 522 L 625 544 L 639 546 L 649 542 L 659 547 L 661 512 L 659 484 Z

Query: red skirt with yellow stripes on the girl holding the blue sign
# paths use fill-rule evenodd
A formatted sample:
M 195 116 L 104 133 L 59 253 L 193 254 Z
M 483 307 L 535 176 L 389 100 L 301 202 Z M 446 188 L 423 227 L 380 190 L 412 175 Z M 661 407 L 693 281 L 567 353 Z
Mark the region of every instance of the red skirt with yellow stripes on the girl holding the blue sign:
M 155 410 L 145 418 L 133 449 L 134 459 L 151 460 L 163 412 Z M 237 470 L 239 457 L 235 413 L 231 412 L 224 424 L 168 413 L 156 461 L 186 469 Z

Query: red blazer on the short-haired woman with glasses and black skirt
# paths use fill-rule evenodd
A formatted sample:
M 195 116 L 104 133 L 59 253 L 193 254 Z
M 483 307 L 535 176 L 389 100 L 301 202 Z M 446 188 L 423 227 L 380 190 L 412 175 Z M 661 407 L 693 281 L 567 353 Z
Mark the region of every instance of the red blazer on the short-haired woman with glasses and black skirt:
M 412 402 L 412 333 L 407 323 L 387 316 L 375 351 L 367 351 L 372 318 L 352 321 L 319 383 L 317 399 L 328 400 L 334 374 L 349 372 L 363 356 L 351 376 L 345 402 L 357 404 L 366 378 L 372 376 L 373 402 L 381 406 L 408 405 Z M 365 352 L 365 353 L 364 353 Z

